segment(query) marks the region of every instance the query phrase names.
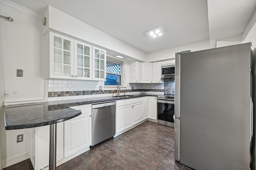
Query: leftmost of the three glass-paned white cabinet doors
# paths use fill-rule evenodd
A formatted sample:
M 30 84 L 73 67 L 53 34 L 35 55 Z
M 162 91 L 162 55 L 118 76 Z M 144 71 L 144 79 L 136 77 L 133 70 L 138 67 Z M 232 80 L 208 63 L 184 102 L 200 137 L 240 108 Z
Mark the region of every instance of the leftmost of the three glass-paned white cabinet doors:
M 74 40 L 50 32 L 50 78 L 74 77 Z

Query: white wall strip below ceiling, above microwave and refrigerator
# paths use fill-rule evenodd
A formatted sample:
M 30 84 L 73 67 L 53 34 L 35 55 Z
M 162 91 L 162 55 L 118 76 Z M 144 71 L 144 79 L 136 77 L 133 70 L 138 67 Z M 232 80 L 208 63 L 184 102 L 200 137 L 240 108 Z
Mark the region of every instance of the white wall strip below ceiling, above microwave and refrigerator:
M 146 54 L 146 62 L 174 59 L 176 52 L 187 51 L 187 50 L 200 51 L 200 50 L 205 50 L 205 49 L 210 49 L 210 41 L 209 40 L 199 41 L 196 43 L 181 45 L 178 47 L 173 47 L 173 48 L 169 48 L 169 49 L 163 49 L 163 50 L 147 53 Z

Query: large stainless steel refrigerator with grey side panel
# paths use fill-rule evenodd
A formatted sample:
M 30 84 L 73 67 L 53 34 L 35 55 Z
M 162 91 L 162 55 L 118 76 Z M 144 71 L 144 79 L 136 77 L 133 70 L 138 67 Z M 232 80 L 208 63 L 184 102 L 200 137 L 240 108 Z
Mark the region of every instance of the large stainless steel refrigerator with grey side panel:
M 196 170 L 249 170 L 250 43 L 176 53 L 175 160 Z

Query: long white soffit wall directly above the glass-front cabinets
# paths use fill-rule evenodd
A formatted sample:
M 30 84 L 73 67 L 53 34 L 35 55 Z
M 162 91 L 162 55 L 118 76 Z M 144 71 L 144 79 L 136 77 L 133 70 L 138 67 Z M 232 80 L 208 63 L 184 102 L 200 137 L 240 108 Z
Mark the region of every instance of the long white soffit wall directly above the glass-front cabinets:
M 49 12 L 49 13 L 48 13 Z M 120 41 L 76 18 L 48 6 L 45 16 L 50 29 L 58 30 L 62 33 L 72 35 L 79 39 L 99 45 L 106 49 L 130 56 L 136 60 L 145 61 L 145 53 Z M 67 24 L 68 23 L 68 24 Z M 102 25 L 104 27 L 104 25 Z M 47 26 L 44 28 L 46 31 Z

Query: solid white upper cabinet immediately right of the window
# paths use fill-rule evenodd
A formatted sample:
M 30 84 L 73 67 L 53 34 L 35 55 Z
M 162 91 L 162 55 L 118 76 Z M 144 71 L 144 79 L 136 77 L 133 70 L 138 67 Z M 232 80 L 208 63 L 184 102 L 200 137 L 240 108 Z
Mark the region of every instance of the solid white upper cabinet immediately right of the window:
M 141 82 L 141 63 L 139 61 L 134 61 L 129 66 L 130 83 L 140 83 Z

